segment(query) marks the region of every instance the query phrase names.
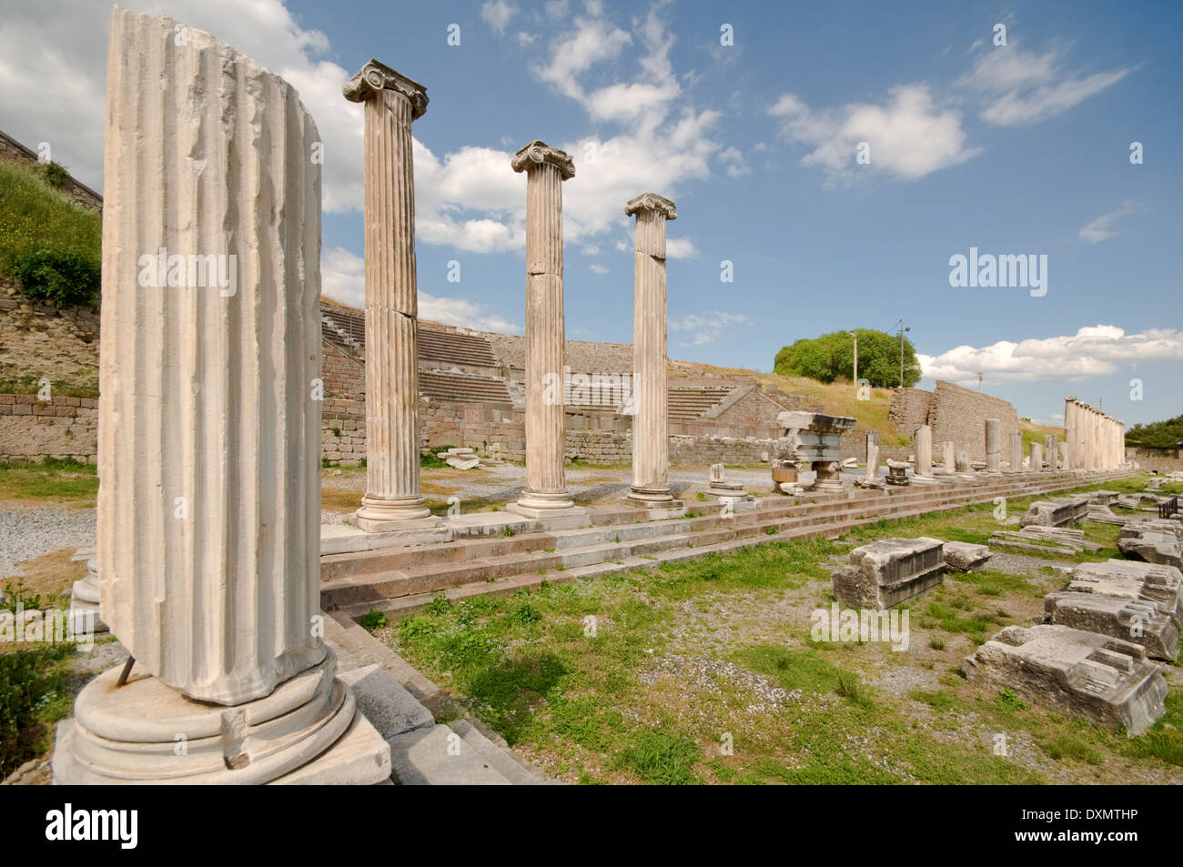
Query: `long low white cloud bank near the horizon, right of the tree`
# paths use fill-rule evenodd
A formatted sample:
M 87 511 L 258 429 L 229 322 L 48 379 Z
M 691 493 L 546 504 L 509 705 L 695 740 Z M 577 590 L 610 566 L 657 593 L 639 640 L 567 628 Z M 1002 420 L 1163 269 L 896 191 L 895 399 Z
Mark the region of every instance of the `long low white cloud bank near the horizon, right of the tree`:
M 1114 374 L 1125 364 L 1183 360 L 1183 331 L 1149 329 L 1127 335 L 1116 325 L 1081 328 L 1074 335 L 957 347 L 938 356 L 919 355 L 924 375 L 952 382 L 1079 381 Z

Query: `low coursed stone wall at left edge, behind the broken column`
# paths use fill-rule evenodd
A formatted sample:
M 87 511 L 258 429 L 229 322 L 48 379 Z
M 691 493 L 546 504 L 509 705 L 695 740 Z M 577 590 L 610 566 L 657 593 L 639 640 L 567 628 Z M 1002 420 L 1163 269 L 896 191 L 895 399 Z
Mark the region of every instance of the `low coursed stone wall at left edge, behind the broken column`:
M 98 399 L 0 394 L 0 461 L 24 464 L 43 458 L 73 458 L 93 464 L 97 453 Z

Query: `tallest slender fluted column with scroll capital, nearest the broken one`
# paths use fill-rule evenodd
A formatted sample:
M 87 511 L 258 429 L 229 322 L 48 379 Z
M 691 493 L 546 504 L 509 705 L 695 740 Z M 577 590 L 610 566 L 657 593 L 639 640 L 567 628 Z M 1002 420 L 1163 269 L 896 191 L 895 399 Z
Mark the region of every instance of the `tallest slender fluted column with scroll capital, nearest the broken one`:
M 427 110 L 427 89 L 370 60 L 343 91 L 366 108 L 366 494 L 354 523 L 369 532 L 424 528 L 439 519 L 419 492 L 411 123 Z

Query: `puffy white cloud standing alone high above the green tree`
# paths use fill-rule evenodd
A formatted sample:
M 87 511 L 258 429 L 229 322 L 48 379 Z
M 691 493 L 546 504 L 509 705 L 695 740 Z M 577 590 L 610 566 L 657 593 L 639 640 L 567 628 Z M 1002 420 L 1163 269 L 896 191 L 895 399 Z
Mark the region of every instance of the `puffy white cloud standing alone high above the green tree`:
M 854 169 L 886 172 L 917 180 L 965 162 L 978 151 L 968 147 L 961 115 L 938 108 L 925 84 L 904 84 L 888 91 L 883 105 L 849 103 L 814 111 L 793 93 L 768 109 L 781 121 L 789 142 L 813 148 L 802 166 L 819 166 L 832 179 L 849 180 Z M 860 142 L 870 145 L 870 163 L 856 166 Z

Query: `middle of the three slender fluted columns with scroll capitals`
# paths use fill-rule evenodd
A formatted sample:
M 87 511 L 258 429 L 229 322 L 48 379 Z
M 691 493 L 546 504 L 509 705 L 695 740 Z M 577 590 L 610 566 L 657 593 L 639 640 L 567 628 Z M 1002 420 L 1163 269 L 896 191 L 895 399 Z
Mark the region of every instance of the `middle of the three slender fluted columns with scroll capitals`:
M 510 510 L 541 518 L 582 512 L 567 491 L 563 358 L 563 181 L 571 157 L 534 141 L 513 155 L 525 173 L 525 475 Z M 577 512 L 576 512 L 577 510 Z

